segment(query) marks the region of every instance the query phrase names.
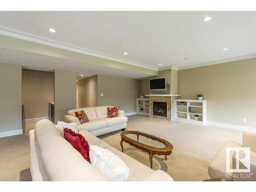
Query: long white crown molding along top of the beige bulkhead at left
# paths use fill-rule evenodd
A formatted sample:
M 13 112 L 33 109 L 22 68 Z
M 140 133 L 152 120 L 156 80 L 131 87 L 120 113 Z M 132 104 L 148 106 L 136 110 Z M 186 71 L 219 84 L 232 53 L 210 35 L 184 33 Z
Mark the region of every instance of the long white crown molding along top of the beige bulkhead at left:
M 102 53 L 97 53 L 97 52 L 86 50 L 86 49 L 81 49 L 81 48 L 78 48 L 78 47 L 75 47 L 75 46 L 72 46 L 72 45 L 62 44 L 60 42 L 40 38 L 40 37 L 37 37 L 37 36 L 32 36 L 30 34 L 25 34 L 25 33 L 22 33 L 20 31 L 16 31 L 16 30 L 13 30 L 13 29 L 8 29 L 8 28 L 1 27 L 0 28 L 0 35 L 14 37 L 14 38 L 17 38 L 17 39 L 22 39 L 22 40 L 27 40 L 27 41 L 35 42 L 37 44 L 42 44 L 42 45 L 46 45 L 46 46 L 50 46 L 50 47 L 55 47 L 55 48 L 59 48 L 59 49 L 64 49 L 64 50 L 68 50 L 68 51 L 82 53 L 82 54 L 95 56 L 95 57 L 99 57 L 99 58 L 103 58 L 103 59 L 122 62 L 122 63 L 128 64 L 128 65 L 141 67 L 141 68 L 146 68 L 146 69 L 150 69 L 150 70 L 154 70 L 154 71 L 158 70 L 158 68 L 146 66 L 146 65 L 144 65 L 142 63 L 139 63 L 139 62 L 134 62 L 134 61 L 121 59 L 121 58 L 118 58 L 118 57 L 113 57 L 113 56 L 102 54 Z

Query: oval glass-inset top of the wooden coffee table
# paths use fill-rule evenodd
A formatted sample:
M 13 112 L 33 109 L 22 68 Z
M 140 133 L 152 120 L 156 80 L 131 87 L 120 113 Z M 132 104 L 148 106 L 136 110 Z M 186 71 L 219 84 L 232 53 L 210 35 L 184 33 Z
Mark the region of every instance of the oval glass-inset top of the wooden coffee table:
M 135 142 L 142 143 L 144 145 L 154 147 L 154 148 L 166 148 L 169 146 L 167 142 L 158 137 L 144 134 L 142 132 L 136 131 L 125 131 L 123 132 L 123 136 L 134 140 Z

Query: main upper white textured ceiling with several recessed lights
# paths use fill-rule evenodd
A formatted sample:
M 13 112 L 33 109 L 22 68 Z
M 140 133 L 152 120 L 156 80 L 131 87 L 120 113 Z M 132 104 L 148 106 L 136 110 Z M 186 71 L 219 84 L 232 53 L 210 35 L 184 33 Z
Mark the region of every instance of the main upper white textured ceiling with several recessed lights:
M 254 11 L 0 12 L 0 28 L 155 68 L 255 54 L 255 23 Z

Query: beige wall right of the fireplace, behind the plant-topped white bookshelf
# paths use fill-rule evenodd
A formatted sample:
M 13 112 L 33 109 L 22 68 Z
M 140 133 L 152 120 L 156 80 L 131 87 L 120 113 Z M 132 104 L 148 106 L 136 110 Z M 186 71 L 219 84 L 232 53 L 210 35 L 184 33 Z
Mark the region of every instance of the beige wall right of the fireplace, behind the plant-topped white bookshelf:
M 183 99 L 203 94 L 208 121 L 256 127 L 256 58 L 179 70 L 178 92 Z

